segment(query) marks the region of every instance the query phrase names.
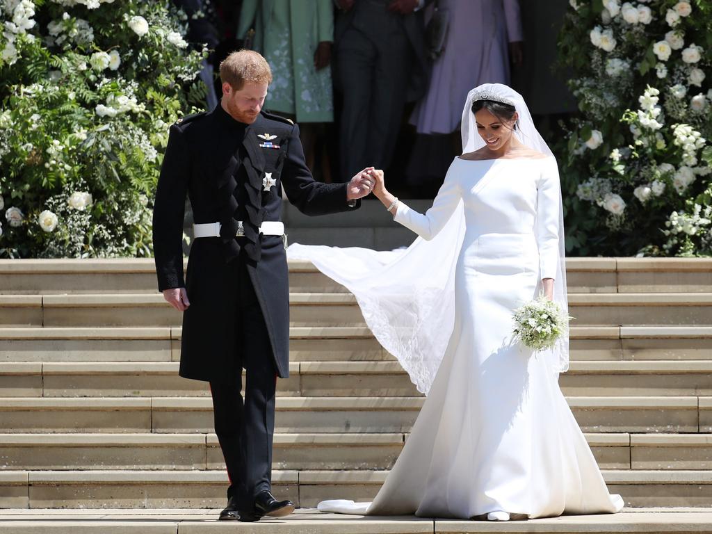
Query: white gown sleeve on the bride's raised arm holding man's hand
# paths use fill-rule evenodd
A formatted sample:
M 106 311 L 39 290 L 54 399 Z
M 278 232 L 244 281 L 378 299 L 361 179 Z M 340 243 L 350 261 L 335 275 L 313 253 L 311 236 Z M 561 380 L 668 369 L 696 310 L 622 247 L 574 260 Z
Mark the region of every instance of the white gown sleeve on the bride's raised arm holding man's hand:
M 433 206 L 425 214 L 410 209 L 404 202 L 399 202 L 393 220 L 414 231 L 426 241 L 433 239 L 449 221 L 462 197 L 453 167 L 454 165 L 450 166 L 445 181 L 433 201 Z

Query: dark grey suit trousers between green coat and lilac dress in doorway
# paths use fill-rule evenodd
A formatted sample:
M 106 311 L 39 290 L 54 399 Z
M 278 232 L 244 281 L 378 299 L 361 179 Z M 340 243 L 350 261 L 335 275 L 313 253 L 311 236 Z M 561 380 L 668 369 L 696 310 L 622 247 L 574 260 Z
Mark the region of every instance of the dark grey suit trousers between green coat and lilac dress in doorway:
M 388 167 L 396 144 L 415 54 L 402 16 L 387 5 L 384 0 L 357 0 L 350 26 L 335 47 L 343 93 L 343 181 L 364 167 Z

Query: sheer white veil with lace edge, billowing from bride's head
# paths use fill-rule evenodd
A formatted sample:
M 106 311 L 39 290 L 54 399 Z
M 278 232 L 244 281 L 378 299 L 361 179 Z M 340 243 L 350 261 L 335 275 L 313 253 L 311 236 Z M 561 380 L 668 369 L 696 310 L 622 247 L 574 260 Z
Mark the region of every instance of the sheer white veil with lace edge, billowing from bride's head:
M 513 103 L 519 115 L 518 139 L 533 150 L 551 155 L 521 95 L 498 83 L 480 85 L 468 94 L 462 120 L 463 152 L 472 152 L 484 145 L 471 112 L 473 100 L 481 95 Z M 378 342 L 397 358 L 419 392 L 427 394 L 454 327 L 455 269 L 464 235 L 465 217 L 460 202 L 439 234 L 430 241 L 418 238 L 405 250 L 377 252 L 368 248 L 293 244 L 287 255 L 291 259 L 311 261 L 350 290 Z M 560 261 L 554 299 L 567 313 L 563 244 L 560 203 Z M 568 333 L 546 357 L 552 361 L 555 371 L 568 369 Z

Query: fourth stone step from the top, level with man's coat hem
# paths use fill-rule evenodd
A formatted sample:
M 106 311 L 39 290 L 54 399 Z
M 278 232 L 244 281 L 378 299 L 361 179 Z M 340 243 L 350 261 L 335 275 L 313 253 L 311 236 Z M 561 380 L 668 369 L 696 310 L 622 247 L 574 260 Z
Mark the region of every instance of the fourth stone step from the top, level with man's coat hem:
M 179 362 L 1 362 L 0 397 L 208 396 Z M 279 397 L 417 397 L 399 362 L 290 362 Z M 710 396 L 712 360 L 571 362 L 570 396 Z

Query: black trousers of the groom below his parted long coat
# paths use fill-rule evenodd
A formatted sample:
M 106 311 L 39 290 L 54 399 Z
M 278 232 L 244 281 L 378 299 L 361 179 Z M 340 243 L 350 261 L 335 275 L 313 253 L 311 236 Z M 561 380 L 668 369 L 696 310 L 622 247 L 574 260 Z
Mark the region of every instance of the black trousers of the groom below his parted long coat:
M 236 368 L 242 377 L 210 382 L 215 432 L 230 478 L 228 498 L 251 511 L 255 496 L 271 489 L 272 439 L 277 373 L 265 320 L 242 257 L 236 258 Z

